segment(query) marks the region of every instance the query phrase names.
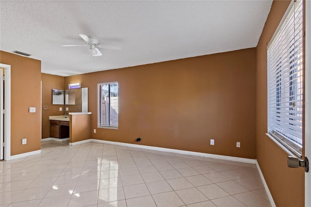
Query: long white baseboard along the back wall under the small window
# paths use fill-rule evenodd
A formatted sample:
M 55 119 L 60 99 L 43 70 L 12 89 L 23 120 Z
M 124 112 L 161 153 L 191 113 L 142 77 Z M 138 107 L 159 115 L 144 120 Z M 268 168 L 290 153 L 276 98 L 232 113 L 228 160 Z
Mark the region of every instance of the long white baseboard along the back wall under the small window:
M 135 147 L 135 148 L 142 148 L 148 150 L 157 150 L 162 152 L 169 152 L 169 153 L 179 153 L 184 155 L 194 155 L 194 156 L 204 156 L 209 158 L 216 158 L 216 159 L 225 159 L 230 161 L 237 161 L 237 162 L 245 162 L 245 163 L 256 163 L 256 159 L 249 159 L 249 158 L 242 158 L 242 157 L 234 157 L 234 156 L 226 156 L 226 155 L 214 155 L 214 154 L 207 154 L 207 153 L 198 153 L 198 152 L 191 152 L 186 150 L 175 150 L 163 147 L 153 147 L 153 146 L 146 146 L 146 145 L 139 145 L 139 144 L 129 144 L 123 142 L 116 142 L 116 141 L 106 141 L 106 140 L 99 140 L 99 139 L 91 139 L 92 142 L 99 142 L 104 144 L 114 144 L 114 145 L 121 145 L 126 147 Z M 74 142 L 76 143 L 76 142 Z

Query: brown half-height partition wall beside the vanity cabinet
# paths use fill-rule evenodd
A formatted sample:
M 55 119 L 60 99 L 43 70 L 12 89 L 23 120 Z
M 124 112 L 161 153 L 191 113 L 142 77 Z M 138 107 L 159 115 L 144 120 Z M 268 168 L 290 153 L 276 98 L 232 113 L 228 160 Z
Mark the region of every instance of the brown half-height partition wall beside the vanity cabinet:
M 69 142 L 77 142 L 91 138 L 91 115 L 70 115 Z

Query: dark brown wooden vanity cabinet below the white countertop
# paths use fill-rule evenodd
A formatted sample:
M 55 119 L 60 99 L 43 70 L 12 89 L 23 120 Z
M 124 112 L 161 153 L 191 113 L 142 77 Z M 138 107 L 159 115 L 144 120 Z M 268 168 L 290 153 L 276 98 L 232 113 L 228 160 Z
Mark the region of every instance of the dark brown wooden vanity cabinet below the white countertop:
M 69 138 L 69 121 L 50 120 L 51 138 Z

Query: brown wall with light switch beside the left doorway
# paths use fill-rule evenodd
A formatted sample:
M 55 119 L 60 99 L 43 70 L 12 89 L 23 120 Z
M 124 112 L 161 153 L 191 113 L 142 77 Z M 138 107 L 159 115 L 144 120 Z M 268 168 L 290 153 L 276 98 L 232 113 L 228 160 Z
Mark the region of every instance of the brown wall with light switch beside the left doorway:
M 11 155 L 40 150 L 41 61 L 0 51 L 0 62 L 11 65 Z

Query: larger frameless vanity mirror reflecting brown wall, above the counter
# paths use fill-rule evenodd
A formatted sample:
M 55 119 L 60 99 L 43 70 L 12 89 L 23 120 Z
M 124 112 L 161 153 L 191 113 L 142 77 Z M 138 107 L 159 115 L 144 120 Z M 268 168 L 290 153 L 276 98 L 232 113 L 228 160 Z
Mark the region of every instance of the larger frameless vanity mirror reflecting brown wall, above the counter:
M 65 90 L 65 115 L 69 112 L 88 112 L 88 88 Z

